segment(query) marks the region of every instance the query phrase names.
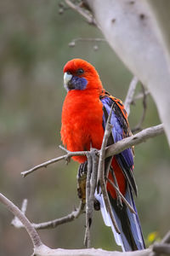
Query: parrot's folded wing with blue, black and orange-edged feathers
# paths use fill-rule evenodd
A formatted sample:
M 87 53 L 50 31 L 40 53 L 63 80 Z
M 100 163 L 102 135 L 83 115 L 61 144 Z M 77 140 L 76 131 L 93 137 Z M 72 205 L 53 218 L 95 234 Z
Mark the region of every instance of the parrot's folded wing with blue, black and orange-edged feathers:
M 106 121 L 109 113 L 111 112 L 111 106 L 113 104 L 113 111 L 111 113 L 111 125 L 113 125 L 111 131 L 111 137 L 109 139 L 109 145 L 122 140 L 125 137 L 132 135 L 128 122 L 127 112 L 124 109 L 122 102 L 119 99 L 111 96 L 108 92 L 103 90 L 100 96 L 100 101 L 103 104 L 103 126 L 105 129 Z M 133 177 L 133 148 L 127 148 L 120 154 L 116 154 L 116 160 L 122 168 L 122 172 L 127 179 L 133 193 L 138 194 L 137 185 Z

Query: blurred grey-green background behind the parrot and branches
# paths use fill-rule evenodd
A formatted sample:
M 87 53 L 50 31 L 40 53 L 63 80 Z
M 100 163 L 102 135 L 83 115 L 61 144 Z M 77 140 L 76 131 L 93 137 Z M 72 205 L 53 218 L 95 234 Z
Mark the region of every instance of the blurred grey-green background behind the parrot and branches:
M 122 101 L 133 78 L 110 46 L 101 42 L 77 42 L 74 38 L 102 38 L 71 9 L 63 13 L 57 0 L 17 0 L 0 2 L 0 187 L 1 192 L 20 207 L 28 199 L 27 217 L 32 222 L 60 218 L 74 207 L 77 199 L 78 164 L 59 162 L 21 177 L 31 166 L 63 152 L 60 118 L 65 99 L 62 69 L 75 57 L 91 62 L 99 71 L 106 90 Z M 128 46 L 127 46 L 128 47 Z M 98 48 L 98 50 L 96 50 Z M 141 90 L 140 86 L 137 92 Z M 132 106 L 129 123 L 133 128 L 142 114 L 142 101 Z M 143 128 L 160 123 L 156 105 L 147 98 Z M 169 229 L 169 148 L 165 136 L 150 139 L 135 148 L 135 177 L 139 186 L 136 200 L 144 238 Z M 13 216 L 0 205 L 0 256 L 31 255 L 26 230 L 10 225 Z M 48 247 L 83 247 L 85 216 L 55 230 L 39 234 Z M 94 214 L 92 246 L 115 250 L 111 230 L 100 212 Z

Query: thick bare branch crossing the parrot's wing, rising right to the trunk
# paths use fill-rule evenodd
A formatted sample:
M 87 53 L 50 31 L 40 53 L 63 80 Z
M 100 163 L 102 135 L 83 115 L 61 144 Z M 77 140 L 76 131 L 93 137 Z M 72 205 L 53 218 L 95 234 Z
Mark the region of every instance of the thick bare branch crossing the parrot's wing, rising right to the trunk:
M 143 131 L 140 131 L 139 133 L 131 137 L 126 137 L 122 139 L 122 141 L 119 141 L 107 147 L 105 152 L 105 158 L 111 155 L 119 154 L 126 148 L 131 148 L 134 145 L 138 145 L 139 143 L 144 143 L 147 139 L 151 137 L 156 137 L 163 133 L 164 133 L 164 128 L 162 124 L 144 129 Z

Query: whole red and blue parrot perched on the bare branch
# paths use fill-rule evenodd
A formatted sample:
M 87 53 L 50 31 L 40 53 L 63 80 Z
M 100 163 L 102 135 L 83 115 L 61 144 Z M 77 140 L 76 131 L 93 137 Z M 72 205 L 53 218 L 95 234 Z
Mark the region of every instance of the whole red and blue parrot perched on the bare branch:
M 112 128 L 108 145 L 132 136 L 122 101 L 111 96 L 103 88 L 99 73 L 93 65 L 77 58 L 68 61 L 63 71 L 67 94 L 62 108 L 60 134 L 62 143 L 69 151 L 100 149 L 111 109 Z M 76 155 L 72 159 L 81 165 L 87 162 L 86 155 Z M 107 162 L 109 160 L 106 159 L 105 165 Z M 116 190 L 111 183 L 107 182 L 106 189 L 111 210 L 120 234 L 112 224 L 102 193 L 96 191 L 95 199 L 99 202 L 105 224 L 111 226 L 116 243 L 122 247 L 122 251 L 142 250 L 145 247 L 144 237 L 133 201 L 133 195 L 138 193 L 133 177 L 133 148 L 127 148 L 120 154 L 110 157 L 110 162 L 108 178 L 114 183 L 115 175 L 118 188 L 135 211 L 135 213 L 130 212 L 123 201 L 121 203 L 118 201 Z

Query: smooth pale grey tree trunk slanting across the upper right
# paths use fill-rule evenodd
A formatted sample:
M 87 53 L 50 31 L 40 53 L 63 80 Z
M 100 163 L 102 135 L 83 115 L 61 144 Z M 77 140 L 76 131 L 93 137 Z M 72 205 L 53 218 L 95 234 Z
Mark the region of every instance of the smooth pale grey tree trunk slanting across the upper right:
M 167 8 L 168 1 L 160 3 L 161 15 L 159 15 L 159 4 L 155 6 L 154 1 L 151 0 L 86 0 L 86 2 L 111 48 L 150 90 L 170 144 L 170 61 L 167 55 L 170 52 L 167 49 L 167 45 L 169 47 L 167 26 L 170 24 L 170 15 L 166 15 L 164 20 L 161 19 L 165 9 L 170 12 Z M 158 20 L 155 14 L 159 16 Z M 161 25 L 157 27 L 157 23 Z M 160 32 L 162 27 L 164 29 Z

